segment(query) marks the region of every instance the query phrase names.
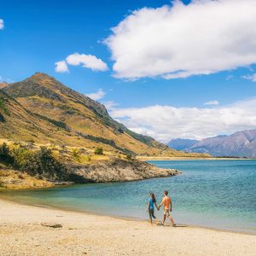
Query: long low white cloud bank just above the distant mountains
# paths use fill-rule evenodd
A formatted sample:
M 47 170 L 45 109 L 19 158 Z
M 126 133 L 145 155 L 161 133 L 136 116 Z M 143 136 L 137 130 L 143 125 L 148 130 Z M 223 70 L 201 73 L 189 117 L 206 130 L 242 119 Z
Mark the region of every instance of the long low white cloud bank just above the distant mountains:
M 213 137 L 256 129 L 256 97 L 217 108 L 113 108 L 110 115 L 137 131 L 168 142 L 172 138 Z

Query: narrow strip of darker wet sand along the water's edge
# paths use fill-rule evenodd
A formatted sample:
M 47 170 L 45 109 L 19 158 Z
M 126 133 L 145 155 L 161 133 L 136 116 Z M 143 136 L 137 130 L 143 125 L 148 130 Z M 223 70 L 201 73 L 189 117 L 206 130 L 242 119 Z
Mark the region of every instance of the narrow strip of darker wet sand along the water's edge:
M 148 223 L 148 218 L 132 218 L 128 216 L 118 216 L 118 215 L 111 215 L 111 214 L 101 214 L 97 212 L 90 212 L 90 211 L 83 211 L 83 210 L 77 210 L 77 209 L 72 209 L 68 207 L 52 207 L 52 206 L 47 206 L 47 205 L 39 205 L 39 204 L 33 204 L 33 203 L 25 203 L 21 201 L 15 201 L 11 199 L 4 198 L 1 196 L 0 193 L 0 205 L 1 201 L 6 201 L 9 203 L 14 203 L 20 206 L 26 206 L 26 207 L 38 207 L 42 209 L 51 209 L 55 211 L 64 211 L 64 212 L 76 212 L 84 215 L 91 215 L 91 216 L 97 216 L 97 217 L 108 217 L 108 218 L 113 218 L 113 219 L 122 219 L 126 221 L 137 221 L 137 222 L 143 222 L 143 223 Z M 166 222 L 168 223 L 168 219 L 166 219 Z M 225 233 L 234 233 L 234 234 L 241 234 L 241 235 L 249 235 L 249 236 L 256 236 L 256 231 L 255 232 L 249 232 L 249 231 L 241 231 L 241 230 L 228 230 L 228 229 L 220 229 L 220 228 L 214 228 L 214 227 L 207 227 L 203 225 L 195 225 L 195 224 L 184 224 L 184 223 L 179 223 L 177 225 L 182 225 L 187 228 L 191 229 L 203 229 L 203 230 L 213 230 L 213 231 L 218 231 L 218 232 L 225 232 Z

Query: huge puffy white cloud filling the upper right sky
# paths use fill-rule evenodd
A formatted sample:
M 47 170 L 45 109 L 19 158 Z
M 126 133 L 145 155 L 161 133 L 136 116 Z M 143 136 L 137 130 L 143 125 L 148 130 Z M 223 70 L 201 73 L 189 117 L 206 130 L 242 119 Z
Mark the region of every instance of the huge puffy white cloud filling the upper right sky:
M 114 76 L 165 79 L 256 63 L 255 0 L 193 0 L 132 12 L 105 40 Z

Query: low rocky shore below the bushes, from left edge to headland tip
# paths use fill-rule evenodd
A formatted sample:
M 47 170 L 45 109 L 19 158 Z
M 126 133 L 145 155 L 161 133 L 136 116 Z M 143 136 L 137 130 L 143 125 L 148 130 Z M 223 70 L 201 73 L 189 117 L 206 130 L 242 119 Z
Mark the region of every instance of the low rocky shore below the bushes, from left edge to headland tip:
M 0 191 L 3 189 L 38 189 L 72 183 L 128 182 L 153 177 L 170 177 L 181 172 L 176 169 L 161 169 L 140 160 L 98 160 L 90 165 L 67 165 L 65 175 L 32 177 L 26 172 L 0 166 Z

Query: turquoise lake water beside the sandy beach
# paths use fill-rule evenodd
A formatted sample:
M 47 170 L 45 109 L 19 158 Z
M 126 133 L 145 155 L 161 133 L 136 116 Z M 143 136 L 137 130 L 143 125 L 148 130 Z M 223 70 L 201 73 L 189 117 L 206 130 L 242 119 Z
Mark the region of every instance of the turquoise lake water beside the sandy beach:
M 176 177 L 130 183 L 93 183 L 22 192 L 4 196 L 15 201 L 96 212 L 130 218 L 148 218 L 148 194 L 158 203 L 168 190 L 173 218 L 178 224 L 247 231 L 256 234 L 256 160 L 163 160 L 155 166 L 183 171 Z M 162 218 L 162 211 L 156 212 Z

